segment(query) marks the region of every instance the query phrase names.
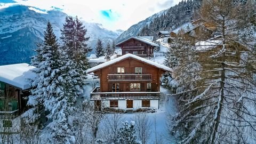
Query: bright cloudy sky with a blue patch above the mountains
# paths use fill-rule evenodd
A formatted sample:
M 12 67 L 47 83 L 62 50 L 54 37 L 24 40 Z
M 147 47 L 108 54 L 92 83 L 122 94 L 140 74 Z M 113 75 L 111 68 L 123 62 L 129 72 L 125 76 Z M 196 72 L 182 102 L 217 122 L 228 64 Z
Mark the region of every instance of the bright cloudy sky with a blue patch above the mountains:
M 168 9 L 181 0 L 0 0 L 0 9 L 15 4 L 31 6 L 45 13 L 58 9 L 87 22 L 101 23 L 109 30 L 127 30 L 151 15 Z M 42 11 L 38 11 L 38 9 Z

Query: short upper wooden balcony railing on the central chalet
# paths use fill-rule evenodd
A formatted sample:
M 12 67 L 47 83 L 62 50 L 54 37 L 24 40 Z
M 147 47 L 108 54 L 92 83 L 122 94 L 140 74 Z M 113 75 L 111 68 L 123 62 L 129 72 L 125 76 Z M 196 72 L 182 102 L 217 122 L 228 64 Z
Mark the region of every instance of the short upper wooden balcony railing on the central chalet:
M 152 81 L 151 74 L 108 74 L 108 81 Z

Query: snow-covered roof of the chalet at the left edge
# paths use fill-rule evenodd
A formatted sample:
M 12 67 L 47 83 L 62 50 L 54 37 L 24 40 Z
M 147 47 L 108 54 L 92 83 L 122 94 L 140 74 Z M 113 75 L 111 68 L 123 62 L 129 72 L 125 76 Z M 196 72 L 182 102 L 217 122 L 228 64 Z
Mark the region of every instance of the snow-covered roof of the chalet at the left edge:
M 30 88 L 28 79 L 33 79 L 36 74 L 32 71 L 35 67 L 28 63 L 0 66 L 0 81 L 19 87 L 22 90 Z

